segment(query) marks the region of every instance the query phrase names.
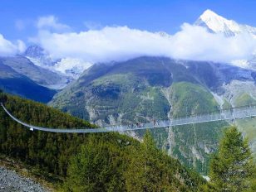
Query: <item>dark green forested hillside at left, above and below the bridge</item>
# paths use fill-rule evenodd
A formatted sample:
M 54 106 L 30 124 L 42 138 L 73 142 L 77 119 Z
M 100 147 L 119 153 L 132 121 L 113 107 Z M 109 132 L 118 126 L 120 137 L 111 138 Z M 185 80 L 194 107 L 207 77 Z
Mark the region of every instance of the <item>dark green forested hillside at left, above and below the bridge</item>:
M 94 127 L 88 122 L 48 108 L 41 103 L 0 94 L 4 105 L 24 122 L 45 127 Z M 30 132 L 0 109 L 0 152 L 37 166 L 42 172 L 66 174 L 68 157 L 85 135 Z

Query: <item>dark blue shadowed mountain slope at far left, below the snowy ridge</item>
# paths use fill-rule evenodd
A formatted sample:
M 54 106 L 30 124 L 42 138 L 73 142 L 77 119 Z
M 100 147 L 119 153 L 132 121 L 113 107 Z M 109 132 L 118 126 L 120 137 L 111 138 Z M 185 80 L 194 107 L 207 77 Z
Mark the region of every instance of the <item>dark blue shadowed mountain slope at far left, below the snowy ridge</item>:
M 35 101 L 47 103 L 50 101 L 55 90 L 47 89 L 36 84 L 22 74 L 18 74 L 15 70 L 0 62 L 0 89 L 7 93 L 17 94 L 19 96 L 30 98 Z

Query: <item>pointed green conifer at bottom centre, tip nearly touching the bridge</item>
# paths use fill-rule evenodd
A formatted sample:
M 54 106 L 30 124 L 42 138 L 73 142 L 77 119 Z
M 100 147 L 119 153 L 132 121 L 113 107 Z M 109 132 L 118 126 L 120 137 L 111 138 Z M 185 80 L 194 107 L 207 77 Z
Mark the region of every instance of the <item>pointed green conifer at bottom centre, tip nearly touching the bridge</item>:
M 126 171 L 127 191 L 171 191 L 170 183 L 165 182 L 167 175 L 162 171 L 165 167 L 161 167 L 159 161 L 162 154 L 149 131 L 145 132 L 140 152 L 135 149 L 131 152 L 133 155 Z

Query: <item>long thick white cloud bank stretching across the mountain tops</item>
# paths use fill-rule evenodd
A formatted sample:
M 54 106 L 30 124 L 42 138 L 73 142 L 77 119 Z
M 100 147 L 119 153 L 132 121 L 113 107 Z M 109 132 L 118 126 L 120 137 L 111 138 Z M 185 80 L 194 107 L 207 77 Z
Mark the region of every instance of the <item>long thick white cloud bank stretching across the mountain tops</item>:
M 78 33 L 41 30 L 37 41 L 55 58 L 81 58 L 89 62 L 126 60 L 140 55 L 229 62 L 246 59 L 256 50 L 256 40 L 249 34 L 227 38 L 186 23 L 181 31 L 168 37 L 127 26 L 106 26 Z

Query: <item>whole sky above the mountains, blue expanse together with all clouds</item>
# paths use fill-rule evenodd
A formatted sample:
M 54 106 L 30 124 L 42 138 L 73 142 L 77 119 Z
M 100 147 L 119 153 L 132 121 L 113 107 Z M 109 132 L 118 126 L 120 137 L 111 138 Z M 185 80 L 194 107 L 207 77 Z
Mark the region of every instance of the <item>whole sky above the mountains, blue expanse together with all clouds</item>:
M 256 26 L 255 0 L 0 0 L 0 56 L 21 54 L 36 43 L 52 58 L 90 63 L 140 55 L 217 62 L 252 58 L 255 33 L 242 30 L 227 38 L 193 25 L 206 9 Z

